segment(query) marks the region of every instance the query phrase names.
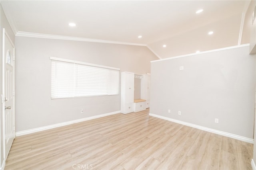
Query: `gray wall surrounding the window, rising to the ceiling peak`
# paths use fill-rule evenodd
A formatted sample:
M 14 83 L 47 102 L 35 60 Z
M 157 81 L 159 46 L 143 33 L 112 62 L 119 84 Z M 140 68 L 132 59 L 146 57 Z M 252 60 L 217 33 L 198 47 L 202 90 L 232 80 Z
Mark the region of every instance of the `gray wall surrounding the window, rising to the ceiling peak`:
M 16 132 L 120 110 L 119 95 L 51 100 L 50 57 L 137 74 L 158 59 L 142 46 L 16 37 Z

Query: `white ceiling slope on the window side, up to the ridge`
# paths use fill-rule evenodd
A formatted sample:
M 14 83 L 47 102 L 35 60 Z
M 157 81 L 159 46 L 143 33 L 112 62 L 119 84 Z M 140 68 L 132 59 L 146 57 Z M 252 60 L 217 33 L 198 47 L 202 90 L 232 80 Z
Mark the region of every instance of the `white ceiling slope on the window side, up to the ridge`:
M 248 2 L 2 0 L 1 4 L 15 33 L 22 31 L 148 45 L 242 14 Z M 201 8 L 204 11 L 195 14 Z M 76 27 L 68 26 L 70 22 L 76 23 Z M 138 39 L 138 35 L 142 38 Z

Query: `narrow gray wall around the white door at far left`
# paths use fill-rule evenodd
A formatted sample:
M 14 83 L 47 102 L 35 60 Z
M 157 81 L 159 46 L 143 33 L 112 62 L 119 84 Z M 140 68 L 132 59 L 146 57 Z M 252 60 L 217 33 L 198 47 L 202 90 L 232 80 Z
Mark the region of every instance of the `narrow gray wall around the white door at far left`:
M 4 14 L 4 10 L 2 9 L 2 6 L 0 6 L 0 82 L 2 82 L 3 77 L 2 77 L 2 51 L 3 51 L 3 46 L 2 46 L 2 42 L 3 42 L 3 28 L 5 29 L 5 32 L 9 35 L 10 39 L 12 40 L 12 42 L 14 43 L 14 33 L 10 27 L 10 24 L 8 23 L 6 16 Z M 4 92 L 2 91 L 2 83 L 0 83 L 0 93 L 3 94 Z M 3 158 L 4 158 L 4 152 L 3 152 L 3 112 L 4 112 L 4 104 L 1 104 L 0 102 L 0 140 L 1 140 L 1 160 L 0 160 L 0 167 L 2 166 L 3 163 Z

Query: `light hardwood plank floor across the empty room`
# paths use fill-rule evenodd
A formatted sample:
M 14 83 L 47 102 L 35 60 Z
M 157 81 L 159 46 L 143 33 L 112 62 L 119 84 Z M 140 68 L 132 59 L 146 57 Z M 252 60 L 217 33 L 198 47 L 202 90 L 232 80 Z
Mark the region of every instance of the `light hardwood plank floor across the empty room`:
M 251 169 L 252 144 L 148 113 L 120 113 L 16 137 L 5 169 Z

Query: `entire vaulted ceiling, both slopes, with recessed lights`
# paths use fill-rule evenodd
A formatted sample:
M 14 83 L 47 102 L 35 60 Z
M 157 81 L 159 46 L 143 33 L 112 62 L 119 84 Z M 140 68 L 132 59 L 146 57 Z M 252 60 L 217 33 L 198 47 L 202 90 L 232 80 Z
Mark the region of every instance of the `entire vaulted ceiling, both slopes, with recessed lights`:
M 160 58 L 237 45 L 249 3 L 247 0 L 1 1 L 17 35 L 40 33 L 145 45 Z M 196 14 L 200 9 L 203 12 Z M 214 31 L 210 39 L 208 31 Z M 142 37 L 138 38 L 139 35 Z

